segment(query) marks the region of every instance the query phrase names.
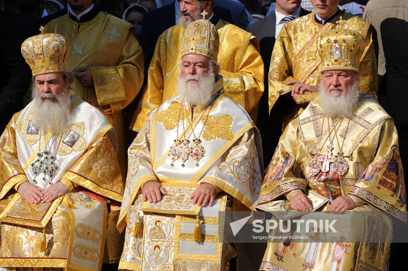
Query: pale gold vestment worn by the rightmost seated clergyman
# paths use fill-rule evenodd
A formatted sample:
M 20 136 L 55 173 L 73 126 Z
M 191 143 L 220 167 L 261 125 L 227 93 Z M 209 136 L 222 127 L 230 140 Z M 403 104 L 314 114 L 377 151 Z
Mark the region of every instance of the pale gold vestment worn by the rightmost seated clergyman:
M 282 195 L 288 197 L 287 193 L 295 190 L 305 192 L 308 188 L 330 202 L 340 196 L 350 196 L 357 205 L 353 211 L 372 212 L 361 212 L 366 216 L 366 226 L 353 229 L 361 231 L 360 242 L 350 243 L 345 234 L 337 240 L 328 239 L 334 243 L 327 243 L 328 240 L 322 242 L 323 234 L 316 234 L 307 243 L 284 244 L 286 249 L 282 248 L 282 243 L 268 243 L 259 270 L 385 270 L 390 242 L 376 243 L 376 234 L 390 241 L 390 218 L 401 224 L 407 221 L 404 173 L 394 122 L 372 92 L 360 94 L 351 119 L 335 119 L 335 125 L 330 121 L 328 133 L 328 118 L 324 117 L 318 100 L 309 103 L 286 127 L 264 178 L 258 205 L 265 205 Z M 331 160 L 324 173 L 319 163 L 311 161 L 318 151 L 327 154 L 326 147 L 331 142 L 333 155 L 344 152 L 346 162 L 336 164 Z M 330 156 L 327 156 L 329 160 Z M 340 175 L 342 170 L 345 173 Z M 376 212 L 378 210 L 384 212 Z M 363 240 L 370 234 L 373 243 L 365 243 Z

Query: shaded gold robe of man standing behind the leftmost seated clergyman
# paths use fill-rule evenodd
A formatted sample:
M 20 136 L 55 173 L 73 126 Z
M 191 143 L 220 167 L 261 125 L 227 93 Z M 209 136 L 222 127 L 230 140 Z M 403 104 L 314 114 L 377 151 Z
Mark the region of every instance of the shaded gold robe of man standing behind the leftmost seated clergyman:
M 126 142 L 122 109 L 142 87 L 144 58 L 135 37 L 135 28 L 115 16 L 98 13 L 89 22 L 74 22 L 64 15 L 49 22 L 44 33 L 63 35 L 69 42 L 67 71 L 89 66 L 93 86 L 84 87 L 74 78 L 71 88 L 75 95 L 98 107 L 111 122 L 118 137 L 118 161 L 126 177 Z

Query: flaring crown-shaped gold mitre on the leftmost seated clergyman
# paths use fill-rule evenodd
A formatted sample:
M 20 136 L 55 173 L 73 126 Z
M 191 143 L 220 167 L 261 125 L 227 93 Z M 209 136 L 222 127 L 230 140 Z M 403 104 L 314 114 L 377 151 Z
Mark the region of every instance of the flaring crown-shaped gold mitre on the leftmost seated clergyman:
M 44 28 L 40 28 L 42 30 Z M 31 68 L 33 76 L 65 72 L 69 45 L 62 35 L 40 34 L 26 39 L 21 45 L 21 54 Z

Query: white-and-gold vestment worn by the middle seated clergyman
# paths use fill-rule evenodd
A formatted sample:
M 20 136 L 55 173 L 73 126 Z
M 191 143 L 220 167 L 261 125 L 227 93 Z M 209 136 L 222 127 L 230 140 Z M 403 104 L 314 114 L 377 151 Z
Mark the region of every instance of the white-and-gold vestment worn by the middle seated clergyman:
M 227 270 L 229 260 L 236 255 L 233 245 L 223 243 L 224 218 L 220 211 L 231 210 L 232 197 L 248 208 L 259 198 L 262 146 L 259 132 L 246 111 L 225 94 L 220 94 L 222 81 L 222 76 L 218 77 L 208 107 L 199 105 L 193 109 L 187 104 L 182 109 L 180 95 L 165 101 L 151 112 L 129 147 L 129 173 L 118 221 L 118 229 L 126 231 L 119 269 Z M 177 153 L 173 145 L 177 126 L 179 139 L 184 139 L 183 125 L 186 137 L 194 127 L 195 137 L 202 140 L 205 150 L 193 146 L 191 138 L 188 145 L 193 146 L 189 152 L 191 157 L 184 162 L 184 167 L 184 149 Z M 172 162 L 179 154 L 179 159 Z M 198 161 L 193 158 L 201 154 L 204 156 Z M 148 201 L 142 203 L 140 188 L 150 180 L 161 182 L 168 191 L 167 199 L 156 203 L 156 209 L 166 208 L 164 213 L 160 210 L 157 212 L 161 214 L 146 212 L 141 208 Z M 220 191 L 212 207 L 193 205 L 200 210 L 200 227 L 204 233 L 201 234 L 204 241 L 197 243 L 193 234 L 196 216 L 187 215 L 185 205 L 191 203 L 188 197 L 201 182 L 213 184 Z M 139 214 L 144 225 L 143 234 L 135 237 Z

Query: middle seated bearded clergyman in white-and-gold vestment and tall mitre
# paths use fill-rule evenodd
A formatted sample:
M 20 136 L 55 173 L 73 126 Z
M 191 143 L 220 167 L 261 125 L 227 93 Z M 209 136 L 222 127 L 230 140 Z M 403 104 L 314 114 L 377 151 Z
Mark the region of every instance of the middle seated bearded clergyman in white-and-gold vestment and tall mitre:
M 151 112 L 129 147 L 120 270 L 227 271 L 237 249 L 224 241 L 224 211 L 259 198 L 259 132 L 221 93 L 217 29 L 196 20 L 183 40 L 178 95 Z

